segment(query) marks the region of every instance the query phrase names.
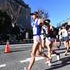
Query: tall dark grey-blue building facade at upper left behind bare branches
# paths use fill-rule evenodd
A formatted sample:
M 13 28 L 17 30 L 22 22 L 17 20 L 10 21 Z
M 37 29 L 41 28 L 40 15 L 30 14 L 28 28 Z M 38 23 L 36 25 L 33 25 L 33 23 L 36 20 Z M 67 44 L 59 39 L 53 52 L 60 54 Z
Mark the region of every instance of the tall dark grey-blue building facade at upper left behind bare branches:
M 0 10 L 5 11 L 11 17 L 11 23 L 17 23 L 22 28 L 30 27 L 31 8 L 22 0 L 0 0 Z

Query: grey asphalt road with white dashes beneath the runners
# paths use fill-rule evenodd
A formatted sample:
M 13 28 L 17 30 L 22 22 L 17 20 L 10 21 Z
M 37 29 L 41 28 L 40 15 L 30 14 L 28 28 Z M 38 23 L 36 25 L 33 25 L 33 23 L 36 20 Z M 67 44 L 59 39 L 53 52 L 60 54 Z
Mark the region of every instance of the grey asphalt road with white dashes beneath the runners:
M 11 45 L 11 52 L 7 54 L 4 53 L 4 46 L 0 46 L 0 70 L 26 70 L 32 44 Z M 36 57 L 32 70 L 70 70 L 70 53 L 64 56 L 64 51 L 63 47 L 56 50 L 60 53 L 60 60 L 57 61 L 56 55 L 53 55 L 51 67 L 45 64 L 44 58 Z

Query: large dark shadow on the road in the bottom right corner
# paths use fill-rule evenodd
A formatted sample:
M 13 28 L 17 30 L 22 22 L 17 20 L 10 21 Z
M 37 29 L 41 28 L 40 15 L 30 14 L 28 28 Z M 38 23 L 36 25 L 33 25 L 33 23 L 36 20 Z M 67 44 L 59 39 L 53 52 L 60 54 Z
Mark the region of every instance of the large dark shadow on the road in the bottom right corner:
M 45 70 L 54 70 L 54 69 L 59 69 L 59 68 L 62 68 L 64 66 L 70 65 L 70 56 L 62 58 L 62 59 L 60 59 L 60 61 L 61 61 L 61 63 L 54 64 L 49 69 L 45 69 Z

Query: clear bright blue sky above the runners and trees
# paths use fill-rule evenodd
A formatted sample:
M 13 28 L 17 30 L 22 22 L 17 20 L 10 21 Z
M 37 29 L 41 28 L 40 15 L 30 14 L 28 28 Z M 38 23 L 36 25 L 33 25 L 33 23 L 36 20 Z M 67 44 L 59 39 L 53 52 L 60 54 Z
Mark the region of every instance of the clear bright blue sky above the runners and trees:
M 51 24 L 58 23 L 70 17 L 70 0 L 24 0 L 31 7 L 31 12 L 37 9 L 48 11 Z

